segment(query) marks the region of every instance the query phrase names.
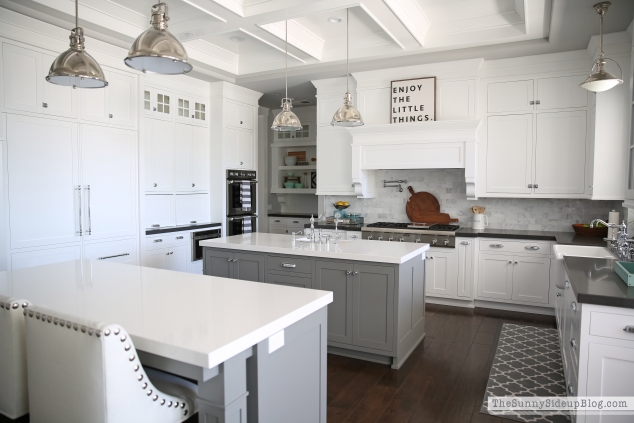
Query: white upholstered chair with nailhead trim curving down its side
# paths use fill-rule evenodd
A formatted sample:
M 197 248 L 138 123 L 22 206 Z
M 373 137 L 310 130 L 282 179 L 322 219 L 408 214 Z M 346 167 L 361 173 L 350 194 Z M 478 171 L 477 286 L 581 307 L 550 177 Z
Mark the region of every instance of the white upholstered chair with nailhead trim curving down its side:
M 154 387 L 119 325 L 30 306 L 26 346 L 31 423 L 172 423 L 194 412 Z

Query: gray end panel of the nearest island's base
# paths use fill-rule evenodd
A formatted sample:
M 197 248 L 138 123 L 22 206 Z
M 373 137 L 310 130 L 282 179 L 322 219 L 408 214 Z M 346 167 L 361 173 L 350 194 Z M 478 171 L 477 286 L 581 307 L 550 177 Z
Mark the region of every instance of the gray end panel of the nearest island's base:
M 284 346 L 269 340 L 247 360 L 249 423 L 326 423 L 327 308 L 284 329 Z

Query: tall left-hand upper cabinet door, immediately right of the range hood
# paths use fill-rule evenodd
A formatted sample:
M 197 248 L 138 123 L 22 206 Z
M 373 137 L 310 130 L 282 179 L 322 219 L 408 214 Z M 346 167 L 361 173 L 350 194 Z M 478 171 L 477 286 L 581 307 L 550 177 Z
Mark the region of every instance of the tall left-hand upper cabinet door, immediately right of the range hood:
M 487 192 L 530 194 L 533 115 L 489 116 L 487 126 Z

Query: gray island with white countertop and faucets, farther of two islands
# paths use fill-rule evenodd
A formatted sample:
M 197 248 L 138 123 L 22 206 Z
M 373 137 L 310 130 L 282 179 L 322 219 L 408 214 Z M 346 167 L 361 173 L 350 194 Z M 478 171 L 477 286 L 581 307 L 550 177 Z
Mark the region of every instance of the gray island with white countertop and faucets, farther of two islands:
M 398 369 L 425 336 L 429 244 L 319 244 L 253 233 L 201 245 L 205 275 L 332 291 L 330 353 Z

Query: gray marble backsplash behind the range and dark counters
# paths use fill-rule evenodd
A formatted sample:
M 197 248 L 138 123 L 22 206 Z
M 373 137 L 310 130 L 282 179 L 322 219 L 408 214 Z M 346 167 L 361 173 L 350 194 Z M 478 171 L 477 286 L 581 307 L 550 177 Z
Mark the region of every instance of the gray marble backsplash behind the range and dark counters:
M 489 227 L 495 229 L 519 229 L 539 231 L 572 231 L 573 223 L 589 223 L 592 219 L 608 218 L 608 212 L 621 212 L 622 201 L 593 201 L 548 198 L 481 198 L 467 200 L 464 169 L 380 170 L 378 181 L 407 179 L 403 192 L 397 188 L 377 188 L 377 197 L 359 199 L 355 196 L 325 196 L 324 206 L 332 214 L 336 201 L 347 201 L 346 210 L 361 213 L 366 223 L 389 221 L 408 222 L 405 205 L 410 194 L 407 185 L 416 192 L 427 191 L 440 202 L 440 211 L 460 219 L 459 225 L 471 227 L 472 206 L 486 207 Z

